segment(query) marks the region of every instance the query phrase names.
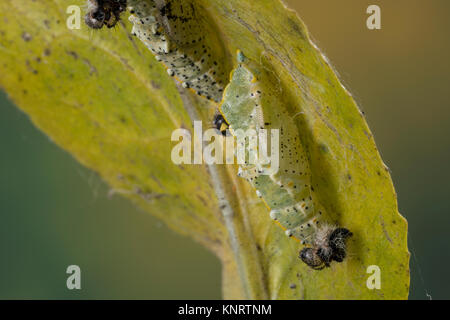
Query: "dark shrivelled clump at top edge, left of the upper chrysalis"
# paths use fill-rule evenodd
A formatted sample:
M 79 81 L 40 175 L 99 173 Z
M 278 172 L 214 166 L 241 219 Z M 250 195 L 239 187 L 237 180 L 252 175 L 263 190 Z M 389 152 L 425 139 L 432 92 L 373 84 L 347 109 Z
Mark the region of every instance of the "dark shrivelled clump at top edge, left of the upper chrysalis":
M 84 21 L 92 29 L 114 27 L 120 20 L 120 14 L 127 9 L 127 0 L 88 0 L 87 4 Z

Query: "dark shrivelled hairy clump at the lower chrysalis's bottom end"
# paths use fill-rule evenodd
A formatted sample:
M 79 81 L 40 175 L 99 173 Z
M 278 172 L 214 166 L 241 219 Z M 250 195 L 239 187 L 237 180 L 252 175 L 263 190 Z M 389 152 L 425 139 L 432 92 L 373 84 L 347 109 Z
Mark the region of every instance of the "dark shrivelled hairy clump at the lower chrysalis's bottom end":
M 299 258 L 315 270 L 342 262 L 347 255 L 346 240 L 353 234 L 345 228 L 325 226 L 315 234 L 313 246 L 300 251 Z

